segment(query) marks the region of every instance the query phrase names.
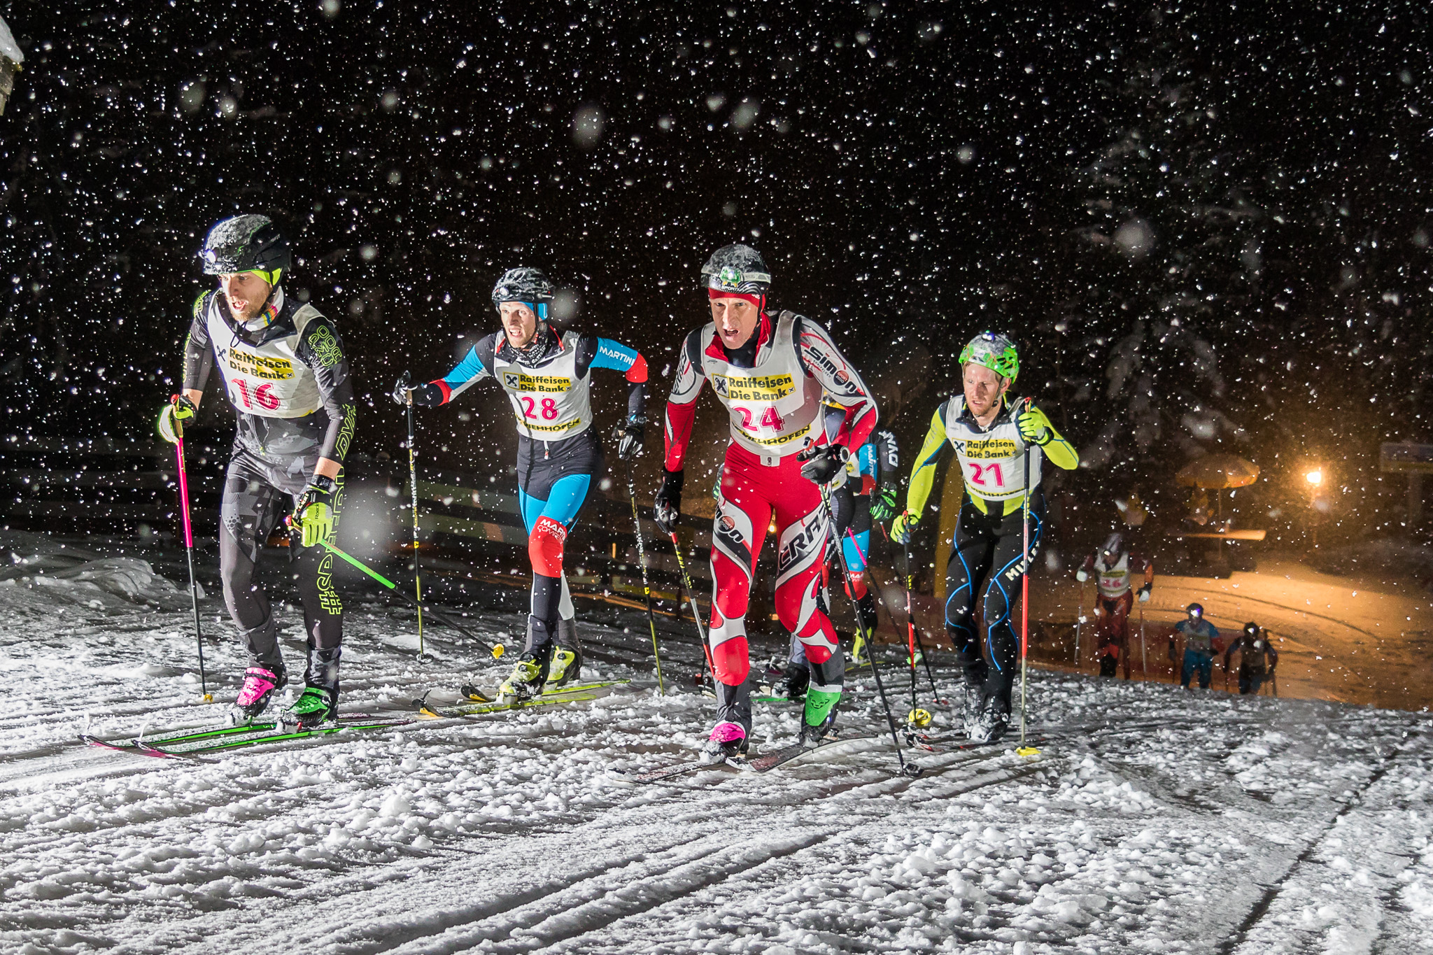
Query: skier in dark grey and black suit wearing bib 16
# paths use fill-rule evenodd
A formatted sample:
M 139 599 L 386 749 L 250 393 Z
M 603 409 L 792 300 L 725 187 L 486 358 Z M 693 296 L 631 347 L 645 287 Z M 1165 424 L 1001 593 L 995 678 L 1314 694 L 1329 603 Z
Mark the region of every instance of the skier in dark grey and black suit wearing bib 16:
M 312 729 L 338 714 L 344 609 L 334 591 L 331 541 L 342 505 L 342 462 L 357 405 L 338 329 L 312 305 L 284 295 L 292 266 L 288 241 L 268 218 L 242 215 L 209 231 L 199 252 L 219 289 L 193 304 L 185 341 L 183 394 L 159 415 L 159 434 L 193 418 L 215 365 L 238 412 L 234 457 L 219 503 L 219 577 L 249 666 L 231 710 L 248 723 L 287 682 L 278 624 L 254 580 L 259 548 L 292 500 L 289 560 L 304 603 L 308 667 L 304 692 L 279 714 Z

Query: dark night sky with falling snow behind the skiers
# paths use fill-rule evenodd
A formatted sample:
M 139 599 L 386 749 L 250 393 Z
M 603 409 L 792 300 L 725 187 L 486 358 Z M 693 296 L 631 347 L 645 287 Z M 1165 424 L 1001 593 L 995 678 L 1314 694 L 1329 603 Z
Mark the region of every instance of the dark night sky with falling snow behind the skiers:
M 0 0 L 27 57 L 0 116 L 4 434 L 152 435 L 195 251 L 238 212 L 284 226 L 287 288 L 340 324 L 358 454 L 398 451 L 391 381 L 492 331 L 513 265 L 648 355 L 655 418 L 698 268 L 747 241 L 886 417 L 910 402 L 907 457 L 993 328 L 1091 465 L 1062 487 L 1092 534 L 1135 485 L 1178 517 L 1172 474 L 1209 451 L 1264 468 L 1245 524 L 1298 533 L 1320 462 L 1326 534 L 1401 530 L 1377 445 L 1433 440 L 1423 4 L 413 6 Z M 490 388 L 430 412 L 428 460 L 504 474 L 509 415 Z

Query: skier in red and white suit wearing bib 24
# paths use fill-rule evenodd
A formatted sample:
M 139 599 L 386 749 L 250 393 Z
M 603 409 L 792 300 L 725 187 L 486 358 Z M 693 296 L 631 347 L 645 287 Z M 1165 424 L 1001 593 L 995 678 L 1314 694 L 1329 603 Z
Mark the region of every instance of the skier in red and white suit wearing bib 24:
M 696 398 L 711 381 L 731 415 L 712 524 L 711 649 L 716 669 L 716 724 L 702 750 L 721 762 L 742 756 L 751 733 L 747 601 L 752 567 L 775 518 L 777 617 L 811 663 L 801 742 L 815 746 L 831 730 L 845 672 L 831 620 L 818 606 L 830 537 L 823 487 L 845 480 L 845 462 L 876 428 L 876 402 L 824 328 L 794 312 L 767 314 L 771 273 L 761 255 L 728 245 L 702 266 L 712 321 L 682 342 L 666 402 L 666 460 L 653 515 L 676 525 L 682 462 Z M 845 409 L 833 437 L 823 427 L 821 397 Z

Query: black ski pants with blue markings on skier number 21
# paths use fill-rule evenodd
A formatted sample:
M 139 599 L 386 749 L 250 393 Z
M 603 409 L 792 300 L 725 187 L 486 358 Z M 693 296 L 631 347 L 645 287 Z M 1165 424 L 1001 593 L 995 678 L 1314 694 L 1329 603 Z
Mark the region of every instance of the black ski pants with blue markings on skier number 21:
M 1039 553 L 1043 530 L 1045 495 L 1039 488 L 1030 495 L 1030 554 L 1025 560 L 1020 511 L 983 514 L 967 497 L 956 517 L 954 546 L 946 564 L 946 633 L 964 669 L 966 684 L 979 687 L 983 700 L 999 700 L 1006 713 L 1020 663 L 1020 636 L 1010 617 L 1020 578 Z M 977 604 L 983 639 L 974 624 Z

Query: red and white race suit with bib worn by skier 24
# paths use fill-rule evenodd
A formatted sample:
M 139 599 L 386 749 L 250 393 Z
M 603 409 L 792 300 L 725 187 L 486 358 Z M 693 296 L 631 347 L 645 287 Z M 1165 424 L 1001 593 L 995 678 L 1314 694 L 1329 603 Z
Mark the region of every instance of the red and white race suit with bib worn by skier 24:
M 739 686 L 749 669 L 747 603 L 772 517 L 781 626 L 801 640 L 813 664 L 838 651 L 835 630 L 817 606 L 830 521 L 821 490 L 801 477 L 797 452 L 828 441 L 823 392 L 845 408 L 845 420 L 830 440 L 851 451 L 866 442 L 877 418 L 866 384 L 824 328 L 792 312 L 781 312 L 774 322 L 762 312 L 755 335 L 755 359 L 742 368 L 732 364 L 714 324 L 691 332 L 666 404 L 668 471 L 682 468 L 704 381 L 711 381 L 731 415 L 732 441 L 712 525 L 711 617 L 716 680 L 728 687 Z M 813 666 L 813 687 L 821 689 L 824 669 Z M 827 680 L 840 686 L 841 667 L 834 670 Z

